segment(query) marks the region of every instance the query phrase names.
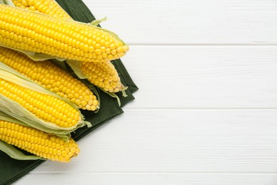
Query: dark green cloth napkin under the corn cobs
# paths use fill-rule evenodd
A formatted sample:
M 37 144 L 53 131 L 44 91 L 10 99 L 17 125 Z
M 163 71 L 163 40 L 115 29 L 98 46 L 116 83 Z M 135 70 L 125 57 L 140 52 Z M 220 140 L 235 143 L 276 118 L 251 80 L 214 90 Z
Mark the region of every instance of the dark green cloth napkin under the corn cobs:
M 95 19 L 89 9 L 87 9 L 87 6 L 81 0 L 56 1 L 58 4 L 60 4 L 60 6 L 63 7 L 63 9 L 65 9 L 65 11 L 67 11 L 68 14 L 70 14 L 70 16 L 72 16 L 72 18 L 77 21 L 88 23 Z M 138 90 L 138 88 L 134 84 L 133 80 L 131 80 L 129 73 L 121 63 L 121 60 L 114 60 L 112 63 L 119 72 L 121 82 L 129 87 L 126 90 L 128 97 L 122 97 L 121 93 L 117 94 L 121 99 L 122 107 L 131 100 L 134 100 L 132 93 Z M 89 132 L 92 132 L 94 129 L 97 129 L 97 127 L 103 125 L 108 120 L 111 120 L 113 117 L 123 113 L 123 110 L 121 110 L 121 107 L 119 107 L 116 99 L 110 97 L 102 91 L 99 91 L 99 95 L 101 98 L 101 108 L 99 112 L 94 113 L 82 110 L 82 114 L 85 115 L 87 121 L 92 123 L 92 127 L 82 127 L 77 129 L 75 133 L 72 133 L 72 137 L 75 140 L 85 137 L 85 135 L 89 134 Z M 42 160 L 18 161 L 11 159 L 7 154 L 0 151 L 0 184 L 11 184 L 42 163 Z

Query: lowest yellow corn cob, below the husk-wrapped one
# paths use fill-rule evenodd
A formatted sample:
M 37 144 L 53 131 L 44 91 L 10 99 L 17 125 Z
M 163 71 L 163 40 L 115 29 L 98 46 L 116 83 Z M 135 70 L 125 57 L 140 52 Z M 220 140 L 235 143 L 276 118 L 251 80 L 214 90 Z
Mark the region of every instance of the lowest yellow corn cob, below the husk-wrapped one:
M 77 143 L 31 127 L 0 120 L 0 140 L 45 159 L 70 162 L 79 154 Z

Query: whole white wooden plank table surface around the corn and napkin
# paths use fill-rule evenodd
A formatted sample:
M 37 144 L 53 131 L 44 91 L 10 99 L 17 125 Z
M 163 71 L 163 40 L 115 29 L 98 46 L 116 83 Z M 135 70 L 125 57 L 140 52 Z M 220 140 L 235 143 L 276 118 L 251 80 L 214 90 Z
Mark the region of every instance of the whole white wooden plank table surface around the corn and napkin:
M 277 184 L 276 0 L 85 0 L 140 90 L 16 184 Z M 134 119 L 136 118 L 136 119 Z

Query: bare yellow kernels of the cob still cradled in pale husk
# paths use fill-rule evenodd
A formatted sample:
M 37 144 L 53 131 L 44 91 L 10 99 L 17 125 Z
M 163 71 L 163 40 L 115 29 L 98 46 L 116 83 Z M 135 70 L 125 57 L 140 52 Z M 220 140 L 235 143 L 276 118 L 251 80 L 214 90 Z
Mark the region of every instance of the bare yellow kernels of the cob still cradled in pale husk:
M 80 121 L 80 112 L 58 97 L 38 93 L 0 78 L 0 93 L 18 102 L 36 117 L 59 127 L 73 127 Z

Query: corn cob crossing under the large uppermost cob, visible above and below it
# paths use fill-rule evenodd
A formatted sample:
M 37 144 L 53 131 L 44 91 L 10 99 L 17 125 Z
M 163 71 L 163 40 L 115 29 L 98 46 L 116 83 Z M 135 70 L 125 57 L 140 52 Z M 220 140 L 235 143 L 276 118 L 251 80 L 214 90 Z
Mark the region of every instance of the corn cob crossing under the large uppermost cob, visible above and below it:
M 21 3 L 18 3 L 18 1 L 21 0 L 14 0 L 13 3 L 23 9 L 28 9 L 28 7 L 30 7 L 30 4 L 33 4 L 33 2 L 30 0 L 26 0 L 26 3 L 24 2 L 24 0 L 21 1 Z M 38 9 L 38 6 L 33 6 L 34 9 L 32 10 L 38 11 L 43 14 L 70 19 L 70 16 L 60 6 L 58 6 L 57 9 L 48 9 L 47 4 L 57 3 L 53 0 L 46 0 L 43 6 L 40 7 L 40 9 Z M 41 9 L 48 9 L 49 11 L 41 11 Z M 60 14 L 59 12 L 65 12 L 67 16 L 65 16 L 64 14 Z M 82 73 L 84 73 L 88 77 L 87 80 L 89 80 L 90 83 L 97 85 L 99 88 L 102 88 L 103 90 L 110 93 L 119 92 L 119 90 L 122 90 L 124 87 L 121 84 L 119 74 L 114 68 L 114 65 L 112 65 L 109 60 L 105 60 L 102 63 L 81 62 L 81 70 Z

